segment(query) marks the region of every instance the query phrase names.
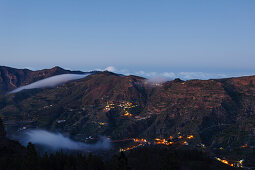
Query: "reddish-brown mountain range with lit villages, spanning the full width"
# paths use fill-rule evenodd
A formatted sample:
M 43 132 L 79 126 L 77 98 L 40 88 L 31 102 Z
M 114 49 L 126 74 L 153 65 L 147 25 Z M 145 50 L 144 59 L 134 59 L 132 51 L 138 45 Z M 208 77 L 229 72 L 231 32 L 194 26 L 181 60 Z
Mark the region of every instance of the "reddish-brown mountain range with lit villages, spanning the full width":
M 53 75 L 83 73 L 59 67 L 0 71 L 1 94 Z M 68 132 L 79 140 L 193 134 L 194 145 L 222 147 L 228 154 L 242 146 L 255 147 L 255 76 L 159 83 L 95 72 L 56 88 L 2 96 L 0 116 L 9 133 L 39 127 Z

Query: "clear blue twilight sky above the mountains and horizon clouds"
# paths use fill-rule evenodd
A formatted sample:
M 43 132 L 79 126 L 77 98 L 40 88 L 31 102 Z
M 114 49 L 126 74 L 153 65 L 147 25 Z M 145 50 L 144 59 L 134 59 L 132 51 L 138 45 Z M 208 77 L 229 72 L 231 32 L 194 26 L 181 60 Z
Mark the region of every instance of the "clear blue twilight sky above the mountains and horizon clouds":
M 254 0 L 0 0 L 0 65 L 255 74 Z

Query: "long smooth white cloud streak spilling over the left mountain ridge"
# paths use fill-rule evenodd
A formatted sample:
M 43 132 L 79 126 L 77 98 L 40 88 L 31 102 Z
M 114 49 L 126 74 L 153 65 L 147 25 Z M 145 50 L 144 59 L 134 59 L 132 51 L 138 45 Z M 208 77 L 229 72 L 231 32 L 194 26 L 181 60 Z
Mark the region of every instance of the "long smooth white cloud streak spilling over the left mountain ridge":
M 13 91 L 9 92 L 9 94 L 17 93 L 17 92 L 20 92 L 25 89 L 56 87 L 58 85 L 66 83 L 66 82 L 81 79 L 86 76 L 88 76 L 88 74 L 62 74 L 62 75 L 52 76 L 52 77 L 28 84 L 26 86 L 22 86 L 17 89 L 14 89 Z

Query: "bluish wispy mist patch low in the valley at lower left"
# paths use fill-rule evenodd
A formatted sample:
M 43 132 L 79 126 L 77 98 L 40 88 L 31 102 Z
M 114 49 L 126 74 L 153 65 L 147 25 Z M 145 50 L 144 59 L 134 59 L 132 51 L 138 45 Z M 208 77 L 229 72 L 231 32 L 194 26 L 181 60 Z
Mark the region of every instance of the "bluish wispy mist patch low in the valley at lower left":
M 110 140 L 102 137 L 95 144 L 85 144 L 76 142 L 68 137 L 63 136 L 61 133 L 52 133 L 45 130 L 28 130 L 24 132 L 19 141 L 23 145 L 28 142 L 41 145 L 50 150 L 73 150 L 73 151 L 97 151 L 110 149 Z

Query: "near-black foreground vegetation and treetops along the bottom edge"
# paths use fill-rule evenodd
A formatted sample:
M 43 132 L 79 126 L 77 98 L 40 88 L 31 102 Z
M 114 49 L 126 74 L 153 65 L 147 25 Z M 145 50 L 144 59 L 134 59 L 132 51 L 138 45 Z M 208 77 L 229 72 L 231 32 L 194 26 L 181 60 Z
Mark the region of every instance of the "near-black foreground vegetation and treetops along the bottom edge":
M 1 155 L 1 170 L 129 170 L 129 169 L 234 169 L 209 158 L 195 150 L 172 150 L 169 148 L 148 147 L 120 152 L 105 160 L 95 155 L 55 154 L 39 155 L 29 143 L 25 155 Z

